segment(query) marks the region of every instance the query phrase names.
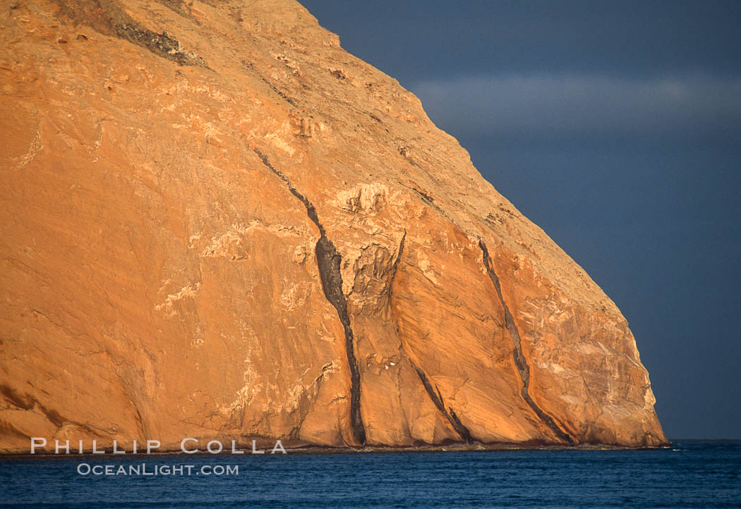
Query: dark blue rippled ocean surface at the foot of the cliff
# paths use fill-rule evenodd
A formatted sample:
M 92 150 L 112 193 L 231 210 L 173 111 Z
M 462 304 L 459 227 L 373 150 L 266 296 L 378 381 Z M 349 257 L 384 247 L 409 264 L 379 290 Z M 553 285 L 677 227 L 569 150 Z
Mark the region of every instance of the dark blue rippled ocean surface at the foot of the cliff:
M 146 466 L 142 470 L 142 463 Z M 104 475 L 93 473 L 93 467 Z M 187 475 L 187 465 L 190 475 Z M 227 466 L 239 473 L 227 472 Z M 82 475 L 80 470 L 89 473 Z M 133 468 L 133 470 L 131 470 Z M 158 475 L 136 475 L 139 471 Z M 183 473 L 163 474 L 173 468 Z M 216 475 L 224 469 L 222 475 Z M 0 507 L 741 507 L 741 442 L 654 451 L 0 459 Z

